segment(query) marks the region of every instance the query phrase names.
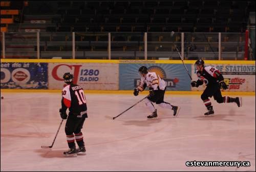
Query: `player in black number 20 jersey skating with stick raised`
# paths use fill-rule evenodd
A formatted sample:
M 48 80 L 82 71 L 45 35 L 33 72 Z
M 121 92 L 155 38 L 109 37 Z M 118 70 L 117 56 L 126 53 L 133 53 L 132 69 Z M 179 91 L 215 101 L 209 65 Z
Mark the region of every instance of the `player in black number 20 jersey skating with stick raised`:
M 201 99 L 203 100 L 208 112 L 204 115 L 211 115 L 214 114 L 214 110 L 212 108 L 211 102 L 209 97 L 214 96 L 214 99 L 218 103 L 231 103 L 236 102 L 237 105 L 240 107 L 242 106 L 242 98 L 241 97 L 228 97 L 221 95 L 221 88 L 226 90 L 228 87 L 224 82 L 224 78 L 220 71 L 215 67 L 207 66 L 204 67 L 204 61 L 199 59 L 196 61 L 195 66 L 197 68 L 197 76 L 198 80 L 191 82 L 192 87 L 199 87 L 205 83 L 206 89 L 204 90 L 203 94 L 201 95 Z

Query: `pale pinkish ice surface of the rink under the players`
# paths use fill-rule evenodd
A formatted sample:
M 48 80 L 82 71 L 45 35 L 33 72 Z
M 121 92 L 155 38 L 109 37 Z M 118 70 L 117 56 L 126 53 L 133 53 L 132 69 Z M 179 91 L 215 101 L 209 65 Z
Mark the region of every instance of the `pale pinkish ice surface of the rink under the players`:
M 255 96 L 243 106 L 218 104 L 205 117 L 200 95 L 166 94 L 181 106 L 158 109 L 158 118 L 143 102 L 115 120 L 145 95 L 86 92 L 88 116 L 82 133 L 87 155 L 66 158 L 65 122 L 51 145 L 61 118 L 61 93 L 1 93 L 1 171 L 255 171 Z M 230 96 L 236 97 L 236 96 Z M 249 161 L 249 167 L 188 167 L 186 161 Z

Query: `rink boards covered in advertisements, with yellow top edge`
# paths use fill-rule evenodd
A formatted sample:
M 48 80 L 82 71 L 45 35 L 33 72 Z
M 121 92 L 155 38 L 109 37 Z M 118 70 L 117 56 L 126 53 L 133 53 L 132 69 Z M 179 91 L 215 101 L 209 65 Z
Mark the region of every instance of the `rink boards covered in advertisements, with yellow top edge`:
M 195 60 L 184 65 L 197 80 Z M 74 82 L 90 91 L 130 92 L 140 80 L 138 69 L 146 66 L 166 81 L 166 91 L 201 92 L 190 87 L 190 78 L 181 60 L 70 60 L 70 59 L 2 59 L 1 89 L 61 90 L 62 75 L 74 74 Z M 205 60 L 206 66 L 217 68 L 224 76 L 228 90 L 255 95 L 255 61 Z

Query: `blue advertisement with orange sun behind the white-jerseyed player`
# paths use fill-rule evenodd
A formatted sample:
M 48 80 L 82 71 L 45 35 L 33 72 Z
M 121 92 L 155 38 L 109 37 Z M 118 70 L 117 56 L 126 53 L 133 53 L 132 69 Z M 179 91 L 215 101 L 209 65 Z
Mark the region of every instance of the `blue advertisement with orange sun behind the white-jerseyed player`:
M 166 82 L 166 91 L 190 91 L 190 78 L 183 64 L 156 64 L 156 63 L 120 63 L 119 90 L 134 90 L 140 81 L 138 70 L 146 66 L 148 71 L 156 72 Z M 186 65 L 191 71 L 191 65 Z

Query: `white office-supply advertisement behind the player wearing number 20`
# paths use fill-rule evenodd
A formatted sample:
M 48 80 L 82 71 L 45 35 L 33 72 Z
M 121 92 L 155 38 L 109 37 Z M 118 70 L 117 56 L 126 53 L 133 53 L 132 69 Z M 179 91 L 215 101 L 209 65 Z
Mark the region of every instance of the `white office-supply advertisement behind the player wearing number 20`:
M 225 92 L 255 92 L 255 65 L 232 65 L 232 64 L 206 64 L 217 68 L 228 85 Z M 192 78 L 197 81 L 196 68 L 192 65 Z M 192 91 L 205 90 L 205 84 L 198 88 L 191 88 Z

